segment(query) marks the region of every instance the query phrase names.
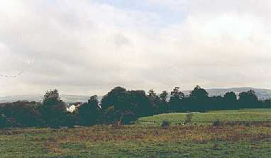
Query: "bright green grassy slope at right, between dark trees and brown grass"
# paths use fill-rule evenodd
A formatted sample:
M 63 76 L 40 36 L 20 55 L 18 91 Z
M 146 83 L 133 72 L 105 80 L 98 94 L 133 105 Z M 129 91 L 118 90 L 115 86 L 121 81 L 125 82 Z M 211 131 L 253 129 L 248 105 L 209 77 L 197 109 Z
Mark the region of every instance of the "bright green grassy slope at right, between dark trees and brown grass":
M 169 120 L 172 124 L 183 122 L 187 113 L 165 113 L 150 117 L 139 118 L 136 124 L 161 124 L 162 120 Z M 220 121 L 271 121 L 271 109 L 243 109 L 236 111 L 209 111 L 208 113 L 194 113 L 193 123 L 210 124 Z

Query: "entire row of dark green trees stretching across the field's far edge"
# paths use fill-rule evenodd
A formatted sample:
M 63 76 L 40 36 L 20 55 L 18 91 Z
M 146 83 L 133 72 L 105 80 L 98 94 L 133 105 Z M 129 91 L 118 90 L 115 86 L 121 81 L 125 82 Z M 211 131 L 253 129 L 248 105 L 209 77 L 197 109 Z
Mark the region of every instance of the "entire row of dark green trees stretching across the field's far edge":
M 94 95 L 80 103 L 73 113 L 66 111 L 58 91 L 47 91 L 43 102 L 16 101 L 0 103 L 0 128 L 23 127 L 74 127 L 74 125 L 131 124 L 137 118 L 160 113 L 176 113 L 240 108 L 271 108 L 270 99 L 259 100 L 255 91 L 243 91 L 238 96 L 227 92 L 224 96 L 209 96 L 205 89 L 196 86 L 185 96 L 179 87 L 170 94 L 153 89 L 128 91 L 118 86 L 102 97 Z

